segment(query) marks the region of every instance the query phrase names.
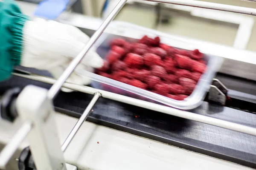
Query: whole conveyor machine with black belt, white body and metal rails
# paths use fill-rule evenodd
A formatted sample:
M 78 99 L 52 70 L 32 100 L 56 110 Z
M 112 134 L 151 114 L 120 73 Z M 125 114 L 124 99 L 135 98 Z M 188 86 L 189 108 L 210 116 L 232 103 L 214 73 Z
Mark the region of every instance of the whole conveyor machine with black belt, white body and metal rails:
M 1 116 L 13 122 L 0 122 L 0 169 L 13 155 L 18 170 L 256 168 L 256 53 L 111 22 L 126 1 L 120 0 L 103 23 L 72 13 L 58 18 L 91 37 L 58 80 L 45 71 L 18 67 L 12 79 L 0 83 Z M 145 1 L 256 15 L 254 8 L 196 0 Z M 139 39 L 144 34 L 223 59 L 200 105 L 183 111 L 65 82 L 101 35 Z M 59 92 L 61 87 L 76 92 Z

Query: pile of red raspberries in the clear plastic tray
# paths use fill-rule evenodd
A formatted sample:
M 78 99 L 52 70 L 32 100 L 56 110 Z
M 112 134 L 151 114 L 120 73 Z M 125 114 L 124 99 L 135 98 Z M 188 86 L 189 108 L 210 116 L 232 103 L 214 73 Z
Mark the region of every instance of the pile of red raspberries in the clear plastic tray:
M 110 47 L 96 74 L 176 100 L 192 93 L 206 69 L 198 49 L 177 49 L 160 43 L 159 37 L 145 35 L 137 42 L 114 39 Z

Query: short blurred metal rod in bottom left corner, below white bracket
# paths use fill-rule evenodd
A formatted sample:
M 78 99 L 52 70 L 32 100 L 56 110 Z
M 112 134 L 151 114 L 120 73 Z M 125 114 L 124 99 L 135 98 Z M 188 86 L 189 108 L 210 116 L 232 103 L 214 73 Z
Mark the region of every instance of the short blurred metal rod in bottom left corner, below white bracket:
M 11 141 L 3 148 L 0 153 L 0 169 L 5 169 L 6 164 L 12 158 L 15 151 L 20 146 L 21 142 L 26 138 L 29 134 L 29 131 L 32 129 L 31 123 L 24 123 L 22 127 L 17 131 L 15 136 L 11 139 Z

